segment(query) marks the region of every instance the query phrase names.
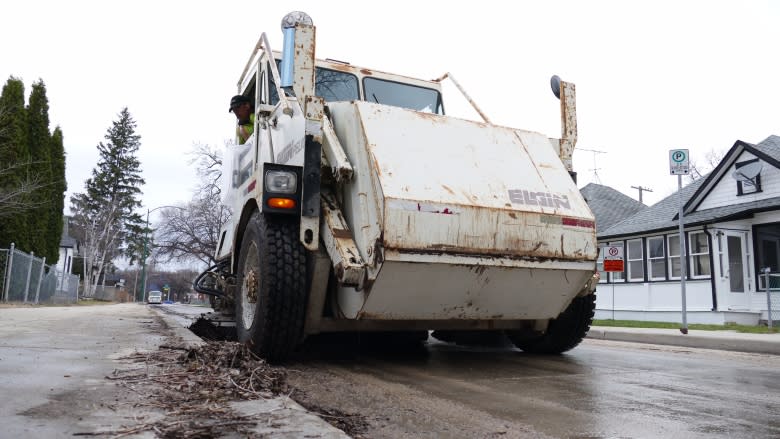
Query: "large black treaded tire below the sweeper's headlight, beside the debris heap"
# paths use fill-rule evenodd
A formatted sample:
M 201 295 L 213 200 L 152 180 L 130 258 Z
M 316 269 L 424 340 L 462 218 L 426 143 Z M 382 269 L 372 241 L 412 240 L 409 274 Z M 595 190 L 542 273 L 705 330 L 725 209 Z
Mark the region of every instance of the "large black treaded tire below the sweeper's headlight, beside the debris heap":
M 269 362 L 283 361 L 302 341 L 306 250 L 297 218 L 255 212 L 238 258 L 236 334 Z

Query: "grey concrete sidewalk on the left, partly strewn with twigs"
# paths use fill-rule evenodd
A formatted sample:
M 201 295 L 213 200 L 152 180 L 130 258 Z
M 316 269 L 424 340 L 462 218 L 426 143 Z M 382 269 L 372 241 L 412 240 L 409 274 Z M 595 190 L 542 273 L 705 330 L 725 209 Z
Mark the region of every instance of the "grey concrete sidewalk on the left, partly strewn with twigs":
M 0 308 L 0 437 L 153 438 L 149 426 L 180 424 L 149 404 L 142 389 L 173 375 L 144 381 L 149 366 L 138 359 L 151 358 L 161 345 L 202 341 L 167 316 L 164 327 L 157 314 L 132 303 Z M 348 437 L 284 396 L 234 402 L 231 408 L 251 418 L 247 422 L 258 421 L 253 437 Z

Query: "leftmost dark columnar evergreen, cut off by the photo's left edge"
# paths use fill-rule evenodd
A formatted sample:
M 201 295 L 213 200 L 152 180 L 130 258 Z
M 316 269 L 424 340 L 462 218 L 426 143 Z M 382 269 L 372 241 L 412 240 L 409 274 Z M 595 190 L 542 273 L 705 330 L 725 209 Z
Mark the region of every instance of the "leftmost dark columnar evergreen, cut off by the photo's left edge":
M 31 249 L 24 213 L 36 184 L 28 174 L 29 159 L 24 83 L 10 77 L 0 94 L 0 248 L 13 242 L 20 250 Z

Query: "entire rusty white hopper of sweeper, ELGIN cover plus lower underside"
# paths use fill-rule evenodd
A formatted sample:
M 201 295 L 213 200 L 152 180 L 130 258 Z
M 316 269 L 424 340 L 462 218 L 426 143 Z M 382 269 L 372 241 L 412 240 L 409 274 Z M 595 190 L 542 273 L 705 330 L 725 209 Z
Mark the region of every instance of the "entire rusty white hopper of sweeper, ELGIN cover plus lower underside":
M 594 217 L 547 137 L 367 102 L 329 109 L 367 272 L 364 288 L 339 287 L 343 317 L 549 319 L 592 276 Z

